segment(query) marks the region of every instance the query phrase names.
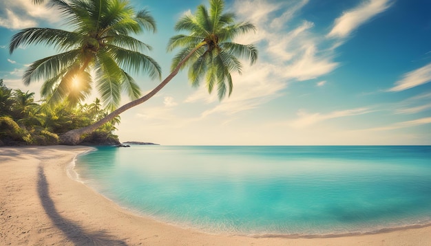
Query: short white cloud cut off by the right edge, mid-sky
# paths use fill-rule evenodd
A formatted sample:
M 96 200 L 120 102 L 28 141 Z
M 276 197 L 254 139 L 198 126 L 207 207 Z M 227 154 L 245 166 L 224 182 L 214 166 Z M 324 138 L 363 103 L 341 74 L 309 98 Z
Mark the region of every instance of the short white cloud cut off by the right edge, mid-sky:
M 395 82 L 395 87 L 388 91 L 404 91 L 412 87 L 417 87 L 431 81 L 431 63 L 414 71 L 410 71 L 403 75 L 401 80 Z

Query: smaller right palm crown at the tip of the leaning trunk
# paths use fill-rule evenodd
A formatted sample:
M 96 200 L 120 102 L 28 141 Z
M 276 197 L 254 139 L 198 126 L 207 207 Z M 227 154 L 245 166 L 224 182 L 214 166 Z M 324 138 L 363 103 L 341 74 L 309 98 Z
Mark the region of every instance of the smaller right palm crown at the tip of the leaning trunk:
M 187 31 L 189 34 L 178 34 L 169 40 L 168 51 L 180 47 L 174 57 L 171 68 L 174 69 L 184 58 L 193 55 L 182 63 L 181 69 L 189 67 L 191 85 L 198 86 L 202 79 L 206 80 L 209 93 L 216 85 L 218 98 L 232 93 L 233 83 L 231 72 L 241 73 L 242 65 L 239 58 L 246 58 L 250 63 L 257 59 L 254 45 L 241 45 L 232 40 L 239 34 L 255 31 L 249 22 L 235 23 L 235 15 L 223 13 L 224 1 L 210 0 L 210 8 L 199 5 L 196 14 L 185 14 L 176 23 L 176 31 Z

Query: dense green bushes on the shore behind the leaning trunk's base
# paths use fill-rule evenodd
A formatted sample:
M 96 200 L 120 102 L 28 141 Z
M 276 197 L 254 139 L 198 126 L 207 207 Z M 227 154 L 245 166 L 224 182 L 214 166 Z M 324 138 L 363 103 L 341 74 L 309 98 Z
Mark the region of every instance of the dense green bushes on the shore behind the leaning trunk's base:
M 59 135 L 93 124 L 107 114 L 101 101 L 69 107 L 67 102 L 52 106 L 34 102 L 34 92 L 9 89 L 0 80 L 0 146 L 59 144 Z M 83 135 L 83 144 L 118 144 L 114 135 L 120 118 Z

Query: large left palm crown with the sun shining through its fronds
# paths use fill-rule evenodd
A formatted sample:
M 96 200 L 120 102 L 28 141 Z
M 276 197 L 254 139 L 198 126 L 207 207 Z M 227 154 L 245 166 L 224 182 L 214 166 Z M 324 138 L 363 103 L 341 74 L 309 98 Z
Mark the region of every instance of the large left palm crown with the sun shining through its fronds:
M 34 3 L 43 1 L 34 0 Z M 126 70 L 145 71 L 160 78 L 160 66 L 146 56 L 151 47 L 129 34 L 156 31 L 147 10 L 134 11 L 127 0 L 50 0 L 61 10 L 72 31 L 32 27 L 12 37 L 10 54 L 20 45 L 45 43 L 60 54 L 36 60 L 25 71 L 25 85 L 43 79 L 42 96 L 50 104 L 67 100 L 76 105 L 92 91 L 91 71 L 103 103 L 116 109 L 122 91 L 129 98 L 140 97 L 140 89 Z

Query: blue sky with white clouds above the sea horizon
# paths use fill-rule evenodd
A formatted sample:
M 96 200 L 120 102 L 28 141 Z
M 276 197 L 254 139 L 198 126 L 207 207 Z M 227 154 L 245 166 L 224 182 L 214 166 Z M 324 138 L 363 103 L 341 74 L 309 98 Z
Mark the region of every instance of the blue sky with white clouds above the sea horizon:
M 164 77 L 174 24 L 207 1 L 131 1 L 147 8 L 156 34 L 137 36 Z M 145 104 L 121 115 L 121 141 L 180 145 L 431 144 L 431 1 L 238 0 L 226 1 L 238 21 L 257 32 L 259 60 L 234 74 L 230 98 L 219 102 L 192 88 L 182 72 Z M 43 45 L 8 53 L 10 37 L 24 27 L 66 28 L 54 10 L 30 0 L 0 3 L 0 78 L 25 87 L 21 76 L 34 60 L 54 54 Z M 158 81 L 134 76 L 143 91 Z M 94 94 L 96 97 L 96 94 Z M 89 100 L 92 100 L 90 98 Z M 127 102 L 127 97 L 123 97 Z

